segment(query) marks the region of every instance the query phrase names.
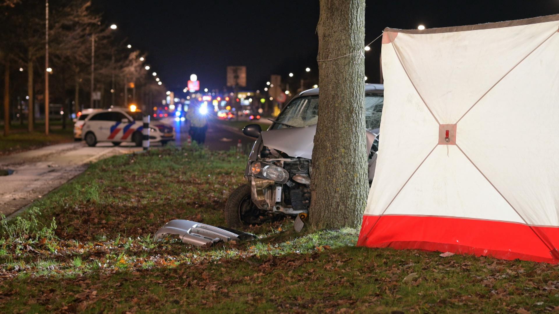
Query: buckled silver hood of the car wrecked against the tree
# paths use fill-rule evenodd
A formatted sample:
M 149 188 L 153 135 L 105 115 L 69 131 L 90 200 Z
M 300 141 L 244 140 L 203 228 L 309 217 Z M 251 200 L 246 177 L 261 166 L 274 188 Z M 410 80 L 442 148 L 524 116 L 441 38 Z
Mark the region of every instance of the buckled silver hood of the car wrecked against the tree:
M 373 130 L 375 131 L 375 130 Z M 284 127 L 279 130 L 269 130 L 262 132 L 262 142 L 264 146 L 281 150 L 283 153 L 292 157 L 302 157 L 312 159 L 312 148 L 314 147 L 314 136 L 316 125 L 305 127 Z M 366 131 L 367 151 L 371 150 L 373 141 L 377 134 Z

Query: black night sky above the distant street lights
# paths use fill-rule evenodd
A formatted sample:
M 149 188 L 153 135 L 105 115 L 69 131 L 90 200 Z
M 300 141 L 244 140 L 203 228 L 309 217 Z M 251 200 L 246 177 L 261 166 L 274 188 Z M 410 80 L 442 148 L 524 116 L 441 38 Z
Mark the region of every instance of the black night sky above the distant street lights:
M 559 13 L 559 0 L 366 4 L 366 43 L 385 27 L 458 26 Z M 318 77 L 318 0 L 93 0 L 93 7 L 119 26 L 122 39 L 148 54 L 148 64 L 173 91 L 186 87 L 192 73 L 201 88 L 222 88 L 228 65 L 247 66 L 247 89 L 262 89 L 270 74 L 285 80 L 293 72 L 297 79 L 307 66 L 308 78 Z M 378 82 L 380 45 L 376 41 L 365 54 L 368 83 Z

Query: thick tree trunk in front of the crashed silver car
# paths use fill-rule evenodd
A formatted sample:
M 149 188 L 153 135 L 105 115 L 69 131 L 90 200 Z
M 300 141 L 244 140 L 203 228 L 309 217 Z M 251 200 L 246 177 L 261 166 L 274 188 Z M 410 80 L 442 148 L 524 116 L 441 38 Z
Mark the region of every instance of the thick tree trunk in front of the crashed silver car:
M 324 61 L 310 208 L 318 229 L 359 226 L 367 203 L 364 26 L 364 0 L 320 0 L 318 60 Z

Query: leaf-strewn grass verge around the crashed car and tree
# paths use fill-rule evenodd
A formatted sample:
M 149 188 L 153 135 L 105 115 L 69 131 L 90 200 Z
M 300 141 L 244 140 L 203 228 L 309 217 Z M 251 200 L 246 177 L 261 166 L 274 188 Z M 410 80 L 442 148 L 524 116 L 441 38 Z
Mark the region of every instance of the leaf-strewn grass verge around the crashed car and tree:
M 559 310 L 556 266 L 357 248 L 358 230 L 296 234 L 286 220 L 249 227 L 251 242 L 153 241 L 174 218 L 224 225 L 244 164 L 233 151 L 192 146 L 92 164 L 2 223 L 0 311 Z

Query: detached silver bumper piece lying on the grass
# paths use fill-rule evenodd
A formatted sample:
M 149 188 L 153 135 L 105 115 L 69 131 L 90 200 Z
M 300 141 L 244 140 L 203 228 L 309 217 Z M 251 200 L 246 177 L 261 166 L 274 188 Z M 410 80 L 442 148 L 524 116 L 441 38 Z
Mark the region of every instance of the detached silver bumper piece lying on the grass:
M 233 229 L 225 230 L 206 225 L 205 223 L 181 219 L 171 220 L 159 228 L 155 232 L 155 241 L 167 234 L 178 235 L 183 243 L 196 246 L 212 245 L 220 241 L 229 242 L 233 240 L 254 239 L 253 235 L 245 232 Z

